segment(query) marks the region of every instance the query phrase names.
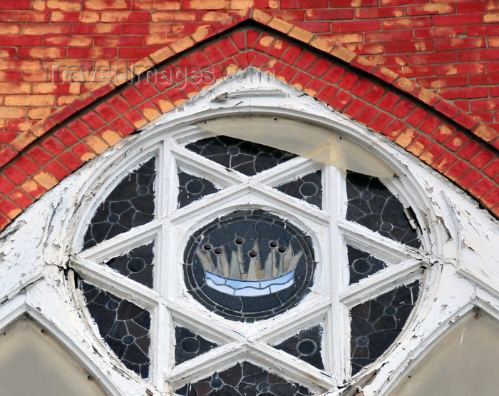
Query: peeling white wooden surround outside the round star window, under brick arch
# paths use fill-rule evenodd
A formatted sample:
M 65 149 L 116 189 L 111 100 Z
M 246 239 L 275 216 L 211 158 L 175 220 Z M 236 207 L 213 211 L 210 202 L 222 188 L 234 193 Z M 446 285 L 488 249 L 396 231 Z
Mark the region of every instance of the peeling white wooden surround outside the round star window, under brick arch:
M 71 350 L 110 395 L 165 395 L 171 390 L 168 384 L 158 385 L 160 375 L 155 375 L 156 387 L 151 387 L 150 382 L 123 370 L 118 359 L 101 342 L 86 311 L 81 309 L 81 295 L 73 288 L 68 261 L 71 254 L 79 250 L 79 238 L 85 230 L 83 219 L 102 199 L 102 190 L 110 183 L 106 175 L 125 173 L 123 164 L 143 155 L 141 144 L 154 145 L 162 133 L 175 135 L 180 128 L 205 119 L 248 114 L 277 114 L 307 120 L 359 143 L 387 163 L 400 176 L 401 194 L 405 191 L 407 199 L 418 209 L 419 223 L 428 230 L 424 243 L 430 252 L 426 258 L 430 266 L 423 268 L 426 278 L 420 302 L 401 337 L 377 362 L 351 379 L 344 372 L 331 370 L 326 374 L 308 370 L 306 365 L 293 367 L 274 360 L 279 352 L 254 341 L 254 334 L 265 333 L 271 342 L 272 326 L 279 323 L 279 317 L 264 325 L 255 325 L 253 330 L 247 324 L 240 325 L 237 331 L 227 330 L 227 339 L 232 342 L 221 347 L 225 348 L 222 350 L 225 357 L 243 354 L 261 364 L 272 362 L 283 375 L 308 377 L 310 382 L 320 380 L 318 386 L 330 389 L 329 395 L 385 395 L 406 369 L 418 362 L 458 318 L 474 307 L 499 320 L 497 221 L 443 176 L 384 136 L 372 133 L 292 87 L 264 78 L 253 72 L 246 78 L 233 76 L 217 83 L 181 108 L 165 114 L 160 121 L 145 126 L 145 133 L 130 136 L 94 158 L 20 215 L 7 232 L 1 234 L 0 327 L 5 328 L 19 315 L 28 313 Z M 328 268 L 321 271 L 321 277 L 331 275 Z M 173 281 L 168 287 L 182 288 Z M 299 310 L 309 311 L 310 315 L 315 315 L 319 306 L 315 300 L 300 305 Z M 175 302 L 168 309 L 182 318 L 192 316 L 184 318 L 191 321 L 192 327 L 203 326 L 202 310 L 182 313 L 182 307 Z M 168 328 L 170 316 L 166 309 L 157 313 L 157 318 L 158 325 Z M 312 320 L 312 316 L 300 318 L 297 326 Z M 335 323 L 336 318 L 327 320 Z M 223 321 L 220 325 L 223 327 Z M 168 344 L 161 346 L 169 347 Z M 341 345 L 336 347 L 341 350 Z M 205 359 L 205 372 L 209 374 L 219 363 L 216 359 Z M 200 375 L 195 372 L 195 365 L 186 363 L 185 367 L 184 371 L 174 367 L 166 372 L 172 384 Z

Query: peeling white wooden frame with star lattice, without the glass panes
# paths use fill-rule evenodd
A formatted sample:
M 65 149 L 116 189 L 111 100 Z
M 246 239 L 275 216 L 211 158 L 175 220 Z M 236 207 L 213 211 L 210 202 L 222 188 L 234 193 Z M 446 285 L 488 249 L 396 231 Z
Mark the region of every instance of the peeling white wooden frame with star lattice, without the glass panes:
M 258 76 L 258 73 L 251 73 L 250 76 Z M 236 101 L 230 98 L 223 102 L 212 100 L 225 92 L 237 93 L 234 95 L 237 106 Z M 8 293 L 1 300 L 0 328 L 5 328 L 20 315 L 28 313 L 56 335 L 112 395 L 140 395 L 145 390 L 152 394 L 166 394 L 186 382 L 195 382 L 214 371 L 230 367 L 237 360 L 246 359 L 269 367 L 278 375 L 299 382 L 311 390 L 319 392 L 326 389 L 331 394 L 341 392 L 338 387 L 355 381 L 361 383 L 362 378 L 377 372 L 374 380 L 364 387 L 366 394 L 374 395 L 388 391 L 396 381 L 389 384 L 386 379 L 400 378 L 411 360 L 421 358 L 425 350 L 446 333 L 450 321 L 475 306 L 497 319 L 499 305 L 496 288 L 477 288 L 463 278 L 471 271 L 469 258 L 465 265 L 459 265 L 463 223 L 462 220 L 461 223 L 456 220 L 456 209 L 448 198 L 456 191 L 446 191 L 439 196 L 433 195 L 433 191 L 429 193 L 428 186 L 431 186 L 432 178 L 438 179 L 438 176 L 427 176 L 430 171 L 400 148 L 326 106 L 310 98 L 300 97 L 297 92 L 279 81 L 262 81 L 260 77 L 246 78 L 245 81 L 223 81 L 202 93 L 200 98 L 187 103 L 183 111 L 168 113 L 140 136 L 130 136 L 123 143 L 118 143 L 115 148 L 103 153 L 48 193 L 47 198 L 41 200 L 46 207 L 38 205 L 48 219 L 43 223 L 36 245 L 43 270 L 40 271 L 38 266 L 31 271 L 26 270 L 31 278 L 28 276 L 17 283 L 11 281 L 10 285 L 9 282 L 2 285 Z M 284 103 L 286 106 L 283 106 Z M 398 174 L 399 178 L 383 182 L 391 191 L 398 193 L 405 205 L 415 210 L 418 223 L 425 229 L 421 236 L 426 253 L 406 248 L 360 225 L 341 220 L 346 212 L 346 191 L 343 171 L 338 168 L 296 158 L 247 178 L 235 172 L 227 173 L 222 166 L 182 148 L 184 141 L 194 141 L 205 136 L 200 128 L 194 126 L 195 123 L 242 114 L 272 115 L 311 122 L 350 138 L 376 153 Z M 123 164 L 130 164 L 130 158 L 138 164 L 153 155 L 158 155 L 157 169 L 160 171 L 156 192 L 157 202 L 161 205 L 157 205 L 156 220 L 81 252 L 83 234 L 91 214 L 113 186 L 134 168 L 123 168 Z M 207 176 L 224 190 L 175 210 L 177 190 L 171 188 L 171 183 L 177 180 L 177 165 L 195 175 Z M 319 166 L 323 169 L 323 195 L 334 196 L 333 199 L 324 199 L 323 210 L 314 209 L 273 188 L 256 186 L 256 183 L 276 186 L 292 180 L 289 178 L 290 171 L 301 176 Z M 426 178 L 421 180 L 422 175 Z M 170 181 L 170 186 L 164 181 Z M 445 182 L 438 186 L 445 186 Z M 53 200 L 58 203 L 55 208 L 55 204 L 50 203 L 50 196 L 56 198 Z M 223 198 L 229 197 L 230 202 L 223 202 Z M 460 199 L 463 201 L 459 202 L 461 205 L 468 205 L 467 198 L 461 196 Z M 312 236 L 319 263 L 313 293 L 292 310 L 252 324 L 224 320 L 202 308 L 186 293 L 180 265 L 187 238 L 199 228 L 200 223 L 209 222 L 216 217 L 216 213 L 230 213 L 247 205 L 271 210 L 299 225 Z M 27 210 L 21 218 L 34 216 L 33 212 Z M 168 233 L 171 227 L 175 227 L 177 232 Z M 16 232 L 14 230 L 14 236 Z M 154 290 L 137 285 L 106 266 L 97 264 L 153 239 L 156 241 L 155 255 L 159 260 L 173 257 L 170 265 L 155 261 Z M 22 238 L 11 240 L 15 245 Z M 401 263 L 391 265 L 358 284 L 348 285 L 346 241 L 358 248 L 365 248 L 389 263 Z M 11 250 L 15 250 L 14 245 Z M 470 254 L 468 251 L 466 253 Z M 124 369 L 101 340 L 96 326 L 91 324 L 88 312 L 82 308 L 83 299 L 71 282 L 71 272 L 68 278 L 64 276 L 64 272 L 67 273 L 66 263 L 91 283 L 148 308 L 153 314 L 151 381 L 140 379 Z M 169 270 L 175 271 L 173 276 Z M 421 276 L 423 283 L 418 306 L 413 310 L 402 334 L 377 362 L 349 378 L 348 309 L 374 295 L 392 290 L 395 285 Z M 480 275 L 473 276 L 480 283 Z M 27 288 L 21 288 L 23 284 Z M 453 285 L 455 289 L 449 290 L 446 295 L 441 285 Z M 440 310 L 435 308 L 436 300 L 441 303 Z M 175 340 L 172 320 L 224 345 L 173 367 Z M 324 372 L 269 346 L 317 323 L 324 325 Z M 230 342 L 227 343 L 227 340 Z

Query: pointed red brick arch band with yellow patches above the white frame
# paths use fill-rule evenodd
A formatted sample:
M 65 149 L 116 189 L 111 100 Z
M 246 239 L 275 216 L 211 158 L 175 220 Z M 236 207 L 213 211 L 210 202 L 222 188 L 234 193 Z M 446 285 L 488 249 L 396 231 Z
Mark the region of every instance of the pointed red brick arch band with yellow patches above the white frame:
M 241 34 L 242 30 L 251 34 Z M 286 51 L 277 46 L 283 40 Z M 207 56 L 206 48 L 212 44 L 220 47 L 220 59 Z M 301 49 L 294 51 L 298 47 Z M 383 133 L 498 215 L 499 194 L 493 179 L 497 168 L 478 168 L 470 163 L 468 153 L 494 155 L 499 147 L 498 133 L 408 78 L 255 9 L 232 14 L 150 54 L 131 66 L 128 76 L 135 77 L 134 71 L 157 71 L 172 62 L 202 64 L 203 59 L 208 61 L 204 66 L 213 66 L 217 71 L 231 61 L 241 68 L 272 64 L 278 71 L 277 78 Z M 189 84 L 182 92 L 178 88 L 170 92 L 143 82 L 130 85 L 130 78 L 83 93 L 0 152 L 0 165 L 4 166 L 0 176 L 0 192 L 4 193 L 0 200 L 0 229 L 84 162 L 210 86 Z M 323 89 L 324 85 L 328 89 Z M 383 100 L 376 96 L 381 91 Z M 116 112 L 120 118 L 115 118 Z M 470 147 L 459 156 L 456 151 L 463 146 Z M 39 167 L 32 166 L 31 160 Z M 21 176 L 17 174 L 19 169 Z

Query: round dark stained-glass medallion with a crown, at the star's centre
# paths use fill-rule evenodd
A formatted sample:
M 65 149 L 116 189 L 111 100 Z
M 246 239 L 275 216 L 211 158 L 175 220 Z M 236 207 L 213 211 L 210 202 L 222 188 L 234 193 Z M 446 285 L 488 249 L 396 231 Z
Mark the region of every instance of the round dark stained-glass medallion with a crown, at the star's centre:
M 187 290 L 232 320 L 272 318 L 312 285 L 314 250 L 302 230 L 263 210 L 239 210 L 197 230 L 185 249 Z

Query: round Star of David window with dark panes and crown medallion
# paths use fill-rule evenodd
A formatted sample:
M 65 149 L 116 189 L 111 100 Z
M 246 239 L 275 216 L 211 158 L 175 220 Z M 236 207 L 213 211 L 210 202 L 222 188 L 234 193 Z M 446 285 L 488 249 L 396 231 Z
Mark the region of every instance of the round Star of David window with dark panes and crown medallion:
M 126 164 L 71 266 L 128 375 L 185 396 L 319 395 L 410 320 L 426 254 L 398 178 L 197 130 Z

